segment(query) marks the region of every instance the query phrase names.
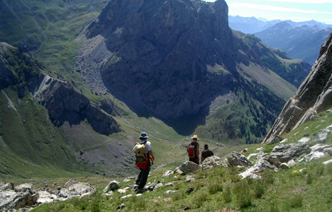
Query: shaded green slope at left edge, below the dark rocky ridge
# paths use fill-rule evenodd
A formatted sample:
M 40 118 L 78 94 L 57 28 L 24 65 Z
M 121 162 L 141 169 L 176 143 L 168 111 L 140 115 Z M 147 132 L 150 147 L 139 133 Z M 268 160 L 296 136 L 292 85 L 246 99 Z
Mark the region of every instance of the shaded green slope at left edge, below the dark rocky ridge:
M 7 97 L 15 109 L 7 106 Z M 74 176 L 82 170 L 43 107 L 31 98 L 18 99 L 11 89 L 1 90 L 0 107 L 0 178 Z

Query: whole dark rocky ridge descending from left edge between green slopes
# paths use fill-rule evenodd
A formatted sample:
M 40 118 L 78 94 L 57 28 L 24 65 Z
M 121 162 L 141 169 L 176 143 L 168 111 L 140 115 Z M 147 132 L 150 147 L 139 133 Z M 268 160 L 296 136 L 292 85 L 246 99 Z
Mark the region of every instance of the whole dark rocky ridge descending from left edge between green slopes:
M 70 83 L 41 73 L 43 66 L 28 54 L 3 42 L 0 43 L 0 49 L 0 88 L 13 86 L 17 88 L 20 98 L 31 93 L 34 100 L 48 109 L 55 126 L 62 126 L 64 122 L 79 124 L 87 119 L 100 134 L 109 135 L 120 131 L 112 117 L 92 105 L 84 95 L 77 93 Z

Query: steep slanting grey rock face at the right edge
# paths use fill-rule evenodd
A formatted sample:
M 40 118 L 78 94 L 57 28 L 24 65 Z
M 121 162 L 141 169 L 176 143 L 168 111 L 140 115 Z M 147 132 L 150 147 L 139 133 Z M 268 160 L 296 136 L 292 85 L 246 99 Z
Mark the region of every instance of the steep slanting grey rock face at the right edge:
M 309 76 L 288 100 L 284 109 L 265 137 L 265 142 L 274 136 L 287 133 L 313 118 L 317 113 L 332 106 L 332 34 L 321 46 L 319 58 L 312 66 Z

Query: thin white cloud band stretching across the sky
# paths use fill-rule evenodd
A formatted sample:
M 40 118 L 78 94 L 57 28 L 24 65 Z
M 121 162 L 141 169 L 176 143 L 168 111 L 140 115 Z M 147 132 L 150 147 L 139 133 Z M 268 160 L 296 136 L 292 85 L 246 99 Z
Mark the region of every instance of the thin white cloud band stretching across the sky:
M 277 1 L 277 0 L 275 0 L 275 1 Z M 282 12 L 295 12 L 295 13 L 332 14 L 332 12 L 307 11 L 307 10 L 302 10 L 302 9 L 298 9 L 298 8 L 287 8 L 287 7 L 270 6 L 270 5 L 263 5 L 263 4 L 230 3 L 230 4 L 228 4 L 228 7 L 229 8 L 252 8 L 252 9 L 265 10 L 265 11 L 267 10 L 267 11 L 282 11 Z

